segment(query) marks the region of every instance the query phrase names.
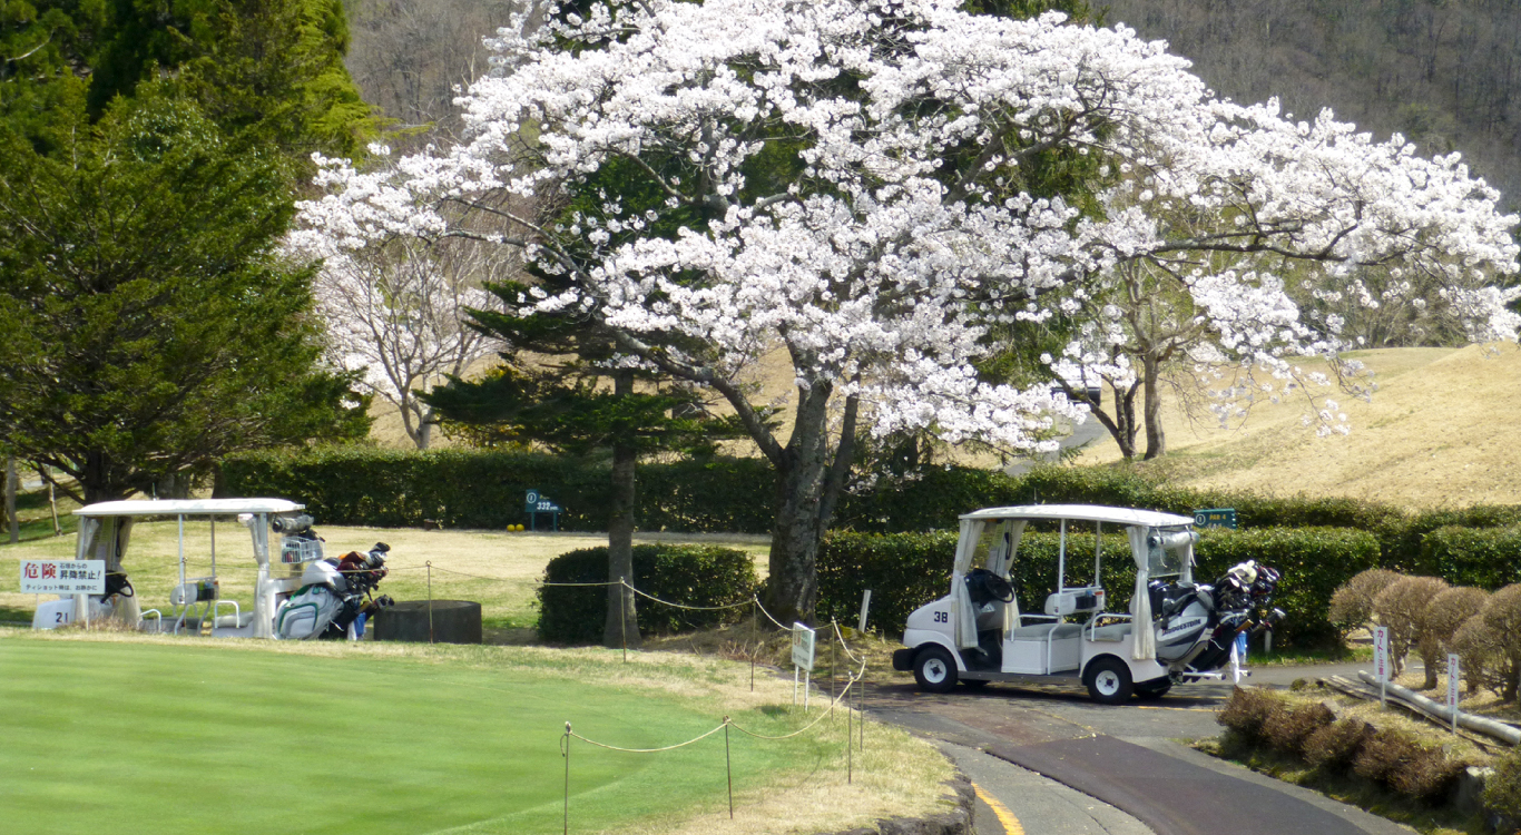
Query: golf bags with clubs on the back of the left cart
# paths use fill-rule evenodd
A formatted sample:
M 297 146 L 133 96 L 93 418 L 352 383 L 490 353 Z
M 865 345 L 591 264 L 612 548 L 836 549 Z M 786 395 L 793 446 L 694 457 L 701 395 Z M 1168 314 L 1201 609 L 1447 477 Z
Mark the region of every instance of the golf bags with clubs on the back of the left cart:
M 376 587 L 386 576 L 386 543 L 368 554 L 350 551 L 341 560 L 307 563 L 301 587 L 275 611 L 275 637 L 291 640 L 350 639 L 365 634 L 371 614 L 394 601 Z

